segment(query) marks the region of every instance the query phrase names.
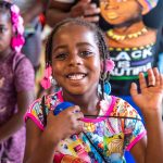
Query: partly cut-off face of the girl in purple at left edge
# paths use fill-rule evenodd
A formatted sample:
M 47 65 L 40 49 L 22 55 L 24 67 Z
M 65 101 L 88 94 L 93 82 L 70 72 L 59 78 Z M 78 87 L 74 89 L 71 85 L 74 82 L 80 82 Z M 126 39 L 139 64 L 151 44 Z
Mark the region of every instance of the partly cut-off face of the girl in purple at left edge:
M 10 48 L 11 38 L 11 22 L 5 13 L 0 12 L 0 55 Z

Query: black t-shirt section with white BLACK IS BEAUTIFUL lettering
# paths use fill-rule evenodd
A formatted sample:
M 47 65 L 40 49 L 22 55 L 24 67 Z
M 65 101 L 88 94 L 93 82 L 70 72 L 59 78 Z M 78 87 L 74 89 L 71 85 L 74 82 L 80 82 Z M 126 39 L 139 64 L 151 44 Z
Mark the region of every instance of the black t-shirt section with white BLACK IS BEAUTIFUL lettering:
M 138 48 L 110 48 L 110 53 L 115 63 L 110 76 L 114 96 L 129 96 L 131 83 L 139 83 L 139 73 L 147 75 L 147 70 L 156 65 L 154 43 Z

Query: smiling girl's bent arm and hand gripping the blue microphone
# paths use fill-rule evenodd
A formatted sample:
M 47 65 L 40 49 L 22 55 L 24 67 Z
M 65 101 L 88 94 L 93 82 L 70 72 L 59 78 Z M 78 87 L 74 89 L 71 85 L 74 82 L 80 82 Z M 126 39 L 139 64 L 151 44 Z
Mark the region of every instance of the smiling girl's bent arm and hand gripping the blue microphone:
M 80 133 L 84 115 L 78 106 L 71 106 L 59 115 L 48 114 L 47 126 L 41 131 L 32 120 L 27 120 L 24 163 L 52 163 L 58 143 L 73 134 Z

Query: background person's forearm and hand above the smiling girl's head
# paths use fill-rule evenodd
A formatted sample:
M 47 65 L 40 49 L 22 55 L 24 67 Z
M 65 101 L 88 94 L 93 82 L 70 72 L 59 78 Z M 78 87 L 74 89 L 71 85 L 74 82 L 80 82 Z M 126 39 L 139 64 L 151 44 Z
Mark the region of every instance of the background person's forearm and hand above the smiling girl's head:
M 68 17 L 86 16 L 85 20 L 89 22 L 98 22 L 100 13 L 99 8 L 95 3 L 90 3 L 90 0 L 79 0 L 75 5 L 70 2 L 59 2 L 50 0 L 46 12 L 46 20 L 50 26 L 54 26 L 57 23 Z M 89 17 L 87 17 L 89 15 Z

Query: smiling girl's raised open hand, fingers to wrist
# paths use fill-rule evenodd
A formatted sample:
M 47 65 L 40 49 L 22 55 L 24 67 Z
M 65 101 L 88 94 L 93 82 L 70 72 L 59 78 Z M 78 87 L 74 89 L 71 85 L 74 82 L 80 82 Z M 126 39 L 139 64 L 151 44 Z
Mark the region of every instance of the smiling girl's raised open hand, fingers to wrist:
M 163 75 L 158 68 L 148 70 L 148 82 L 143 73 L 139 74 L 140 93 L 137 85 L 131 84 L 130 95 L 135 103 L 146 113 L 161 112 L 163 101 Z

